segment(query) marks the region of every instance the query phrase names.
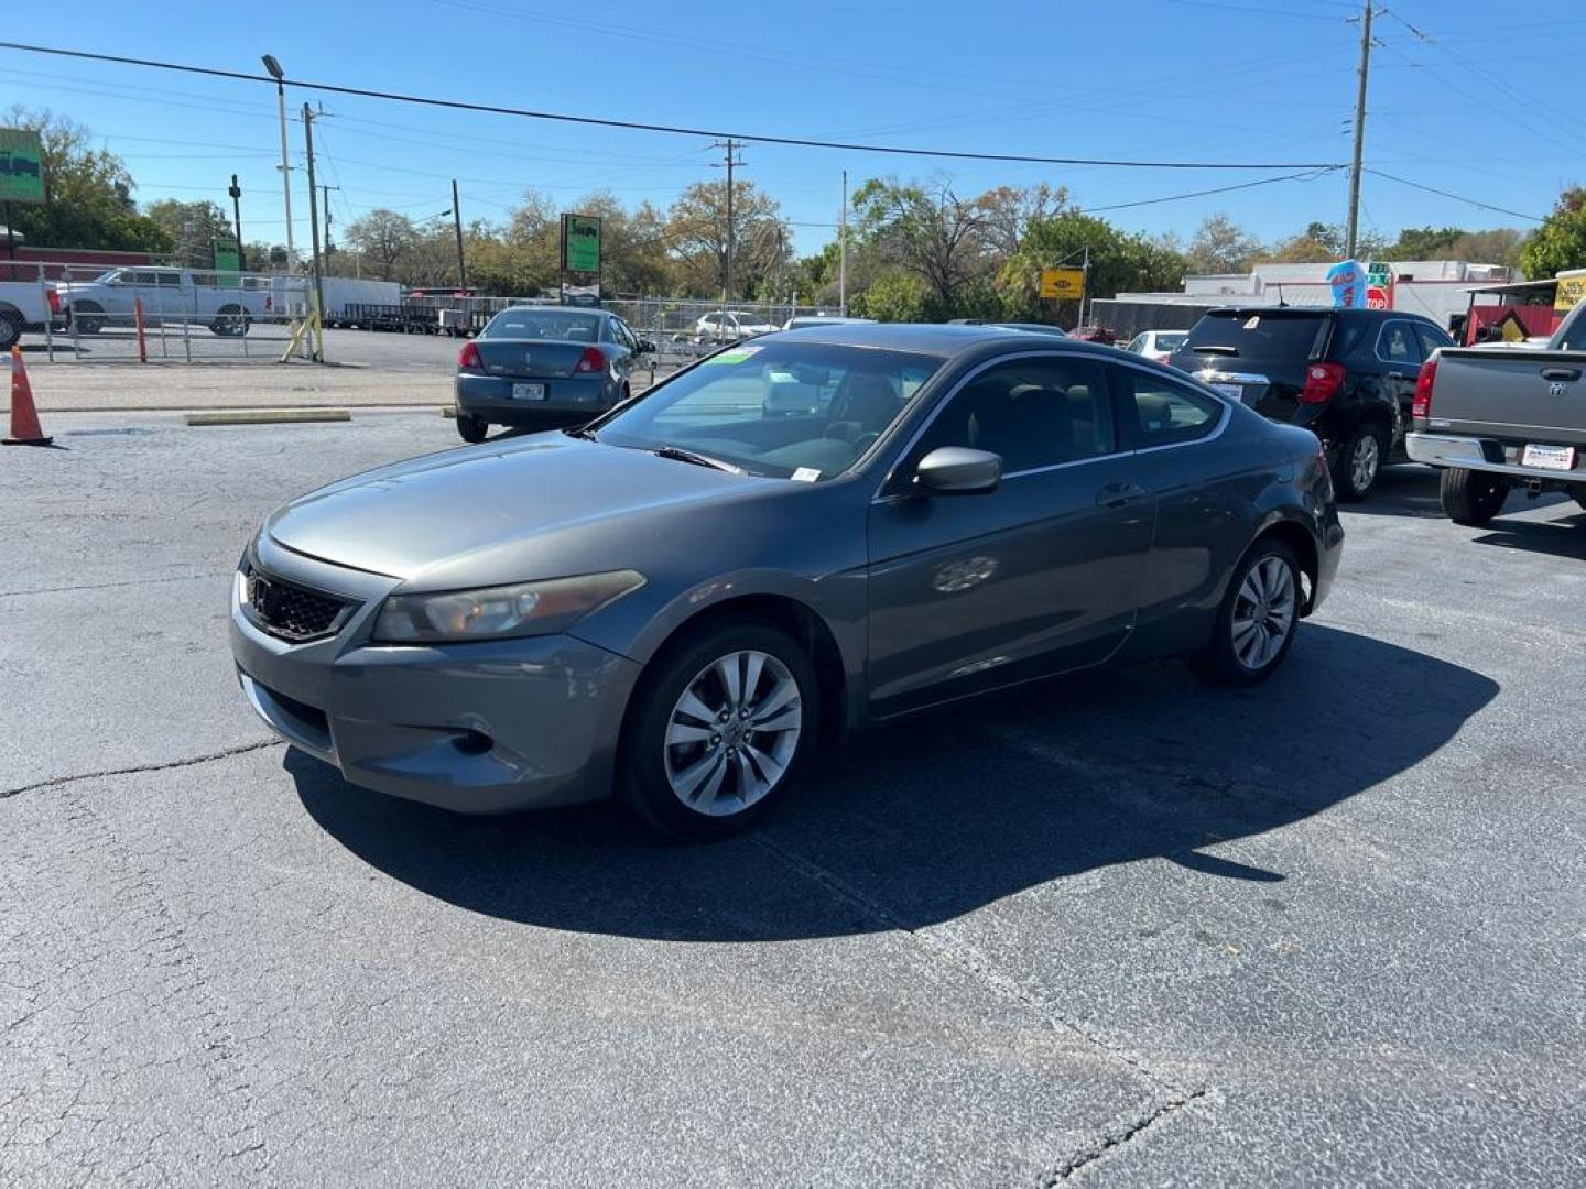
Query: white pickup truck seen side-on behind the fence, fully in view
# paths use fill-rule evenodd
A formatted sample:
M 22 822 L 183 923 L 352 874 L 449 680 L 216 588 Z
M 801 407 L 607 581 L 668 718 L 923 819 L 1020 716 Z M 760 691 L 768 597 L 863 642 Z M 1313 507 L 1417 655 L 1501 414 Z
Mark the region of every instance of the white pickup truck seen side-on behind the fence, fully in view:
M 98 335 L 106 327 L 130 328 L 143 303 L 146 327 L 195 323 L 216 335 L 246 335 L 254 322 L 284 317 L 270 277 L 189 268 L 136 265 L 113 268 L 92 281 L 56 285 L 68 330 Z

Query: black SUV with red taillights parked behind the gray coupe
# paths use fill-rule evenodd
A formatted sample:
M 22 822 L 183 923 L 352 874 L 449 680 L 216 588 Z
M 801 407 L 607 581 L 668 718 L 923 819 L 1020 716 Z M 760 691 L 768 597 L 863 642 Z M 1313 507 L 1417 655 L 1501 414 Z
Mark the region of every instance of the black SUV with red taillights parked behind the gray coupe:
M 1213 309 L 1170 357 L 1228 396 L 1321 438 L 1340 499 L 1364 499 L 1404 434 L 1421 363 L 1454 341 L 1393 309 Z

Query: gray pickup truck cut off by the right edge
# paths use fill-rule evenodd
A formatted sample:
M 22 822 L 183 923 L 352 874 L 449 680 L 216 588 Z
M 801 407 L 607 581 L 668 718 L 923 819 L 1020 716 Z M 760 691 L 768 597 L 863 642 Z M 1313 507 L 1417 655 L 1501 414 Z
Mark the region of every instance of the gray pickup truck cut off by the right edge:
M 1484 525 L 1513 488 L 1586 507 L 1586 301 L 1548 346 L 1443 347 L 1421 366 L 1405 447 L 1442 468 L 1443 510 Z

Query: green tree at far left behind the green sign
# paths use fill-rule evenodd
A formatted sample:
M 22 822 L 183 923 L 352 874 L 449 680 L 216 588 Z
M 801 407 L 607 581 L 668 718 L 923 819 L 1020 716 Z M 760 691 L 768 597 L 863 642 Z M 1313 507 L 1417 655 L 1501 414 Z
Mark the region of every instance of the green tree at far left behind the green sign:
M 119 252 L 171 250 L 165 230 L 138 214 L 132 200 L 135 182 L 125 162 L 92 147 L 92 135 L 81 124 L 51 111 L 14 106 L 0 116 L 0 125 L 35 130 L 44 147 L 49 201 L 11 208 L 16 230 L 30 244 Z

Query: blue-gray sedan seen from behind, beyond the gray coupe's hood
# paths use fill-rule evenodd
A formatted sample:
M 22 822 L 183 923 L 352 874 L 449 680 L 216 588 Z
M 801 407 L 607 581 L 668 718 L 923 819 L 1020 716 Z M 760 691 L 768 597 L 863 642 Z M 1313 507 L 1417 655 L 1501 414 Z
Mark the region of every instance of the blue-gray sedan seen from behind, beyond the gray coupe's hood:
M 582 425 L 628 400 L 634 357 L 653 350 L 606 311 L 503 309 L 457 355 L 457 433 L 482 442 L 492 425 Z

